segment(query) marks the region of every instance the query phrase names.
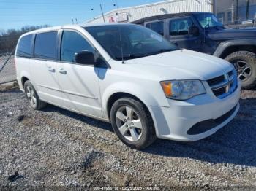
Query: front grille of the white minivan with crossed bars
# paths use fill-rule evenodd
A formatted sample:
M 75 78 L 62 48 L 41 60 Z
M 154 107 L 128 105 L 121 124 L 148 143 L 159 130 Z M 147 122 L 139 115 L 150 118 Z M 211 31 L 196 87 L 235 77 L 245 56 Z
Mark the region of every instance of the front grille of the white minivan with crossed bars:
M 212 92 L 217 98 L 223 99 L 232 94 L 237 88 L 236 71 L 232 70 L 219 77 L 207 80 Z

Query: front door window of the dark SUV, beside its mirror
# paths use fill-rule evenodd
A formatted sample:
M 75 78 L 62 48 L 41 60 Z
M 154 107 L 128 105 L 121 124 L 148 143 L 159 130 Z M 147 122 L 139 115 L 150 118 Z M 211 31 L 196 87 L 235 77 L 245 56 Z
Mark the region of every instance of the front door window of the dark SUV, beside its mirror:
M 191 26 L 192 26 L 192 20 L 189 17 L 177 19 L 177 20 L 170 20 L 170 23 L 169 23 L 170 36 L 187 35 L 189 34 L 189 27 Z

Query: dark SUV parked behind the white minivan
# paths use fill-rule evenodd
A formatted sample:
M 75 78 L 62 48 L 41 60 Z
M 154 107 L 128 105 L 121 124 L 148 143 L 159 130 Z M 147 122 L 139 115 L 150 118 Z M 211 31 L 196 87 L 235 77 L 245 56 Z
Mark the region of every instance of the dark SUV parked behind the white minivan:
M 256 85 L 256 29 L 226 29 L 210 12 L 157 15 L 132 23 L 151 28 L 178 47 L 226 59 L 244 89 Z

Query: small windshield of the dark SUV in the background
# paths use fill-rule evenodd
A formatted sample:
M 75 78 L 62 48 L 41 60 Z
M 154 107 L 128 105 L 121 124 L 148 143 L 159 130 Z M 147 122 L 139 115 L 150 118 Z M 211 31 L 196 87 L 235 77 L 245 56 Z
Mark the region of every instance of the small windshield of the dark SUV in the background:
M 217 17 L 211 13 L 195 15 L 203 28 L 224 28 Z

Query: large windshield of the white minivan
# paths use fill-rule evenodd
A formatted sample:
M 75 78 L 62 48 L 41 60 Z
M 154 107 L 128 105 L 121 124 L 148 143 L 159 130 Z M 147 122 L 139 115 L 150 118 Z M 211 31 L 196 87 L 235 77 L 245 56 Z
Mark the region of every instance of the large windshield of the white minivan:
M 175 44 L 143 26 L 117 24 L 89 26 L 85 29 L 118 61 L 122 60 L 122 55 L 124 60 L 129 60 L 178 50 Z

